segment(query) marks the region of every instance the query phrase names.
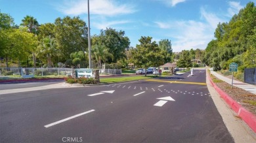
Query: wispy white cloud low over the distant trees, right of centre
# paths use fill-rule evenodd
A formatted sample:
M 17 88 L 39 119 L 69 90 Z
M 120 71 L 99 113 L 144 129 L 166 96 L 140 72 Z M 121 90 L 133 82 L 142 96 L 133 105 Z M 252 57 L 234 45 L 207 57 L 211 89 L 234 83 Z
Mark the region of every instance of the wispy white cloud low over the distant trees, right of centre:
M 158 22 L 158 27 L 164 29 L 165 36 L 171 38 L 173 52 L 181 52 L 181 50 L 190 50 L 191 48 L 205 49 L 208 42 L 213 39 L 213 31 L 210 25 L 194 20 L 188 21 L 172 21 Z M 171 25 L 161 27 L 161 25 Z M 172 33 L 176 33 L 175 35 Z M 177 34 L 179 33 L 179 34 Z

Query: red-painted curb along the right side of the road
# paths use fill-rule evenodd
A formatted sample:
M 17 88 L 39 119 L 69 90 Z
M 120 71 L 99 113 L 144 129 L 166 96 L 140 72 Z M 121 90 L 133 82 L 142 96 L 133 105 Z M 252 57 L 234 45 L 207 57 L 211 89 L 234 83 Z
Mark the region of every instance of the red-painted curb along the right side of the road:
M 249 127 L 256 133 L 256 116 L 242 107 L 239 103 L 237 103 L 234 99 L 232 99 L 227 93 L 221 90 L 219 87 L 216 86 L 215 83 L 211 80 L 211 77 L 208 74 L 208 78 L 211 82 L 211 85 L 216 89 L 216 91 L 221 95 L 221 98 L 226 101 L 226 103 L 238 114 L 240 118 L 242 118 Z

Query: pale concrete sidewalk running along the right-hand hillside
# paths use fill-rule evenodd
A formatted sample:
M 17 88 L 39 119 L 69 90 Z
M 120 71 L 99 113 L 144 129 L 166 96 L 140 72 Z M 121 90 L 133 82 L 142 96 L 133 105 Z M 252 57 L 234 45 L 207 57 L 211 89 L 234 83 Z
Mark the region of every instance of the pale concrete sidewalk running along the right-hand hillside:
M 216 76 L 217 78 L 219 78 L 220 80 L 223 80 L 224 82 L 228 83 L 228 84 L 232 84 L 232 79 L 230 78 L 226 78 L 225 76 L 218 74 L 215 71 L 211 71 L 211 74 L 213 74 L 214 76 Z M 256 95 L 256 86 L 252 85 L 252 84 L 246 84 L 244 82 L 240 82 L 238 80 L 233 80 L 233 86 L 239 87 L 244 89 L 245 91 L 249 91 L 253 94 Z

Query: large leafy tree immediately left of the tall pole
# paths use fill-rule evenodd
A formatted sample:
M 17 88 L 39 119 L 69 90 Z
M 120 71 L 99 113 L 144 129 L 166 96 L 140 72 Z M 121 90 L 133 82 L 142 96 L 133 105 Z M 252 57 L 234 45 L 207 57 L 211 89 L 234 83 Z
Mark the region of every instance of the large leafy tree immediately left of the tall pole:
M 54 37 L 60 49 L 60 60 L 69 59 L 72 52 L 85 51 L 87 49 L 87 26 L 78 16 L 74 18 L 70 18 L 70 16 L 66 16 L 63 19 L 56 18 L 54 24 Z M 51 31 L 46 33 L 51 33 Z

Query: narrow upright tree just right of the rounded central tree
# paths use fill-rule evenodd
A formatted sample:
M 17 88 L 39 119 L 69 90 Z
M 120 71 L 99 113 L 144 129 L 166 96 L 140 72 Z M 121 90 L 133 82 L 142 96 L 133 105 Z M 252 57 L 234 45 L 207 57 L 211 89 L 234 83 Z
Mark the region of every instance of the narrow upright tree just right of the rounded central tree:
M 159 47 L 161 49 L 161 53 L 164 56 L 164 62 L 171 62 L 171 56 L 173 54 L 173 49 L 171 48 L 171 40 L 163 39 L 159 42 Z

